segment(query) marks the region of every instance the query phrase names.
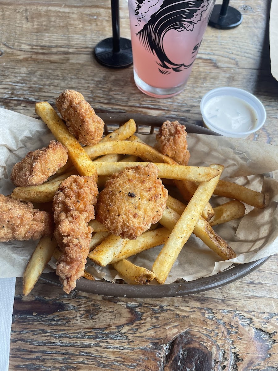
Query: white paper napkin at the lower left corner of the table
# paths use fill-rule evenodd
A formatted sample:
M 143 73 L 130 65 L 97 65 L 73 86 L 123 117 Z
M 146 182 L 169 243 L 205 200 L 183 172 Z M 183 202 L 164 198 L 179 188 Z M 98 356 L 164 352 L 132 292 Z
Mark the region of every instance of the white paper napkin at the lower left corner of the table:
M 16 278 L 0 279 L 0 370 L 8 371 Z

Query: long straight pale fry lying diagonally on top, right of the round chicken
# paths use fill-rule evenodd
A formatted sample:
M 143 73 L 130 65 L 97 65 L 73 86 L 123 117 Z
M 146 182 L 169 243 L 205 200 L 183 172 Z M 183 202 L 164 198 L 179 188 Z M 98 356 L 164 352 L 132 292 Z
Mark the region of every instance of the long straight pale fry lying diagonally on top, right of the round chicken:
M 165 282 L 183 245 L 193 232 L 203 208 L 211 198 L 224 168 L 222 165 L 217 164 L 212 164 L 211 167 L 218 169 L 219 175 L 208 182 L 202 182 L 199 184 L 196 192 L 193 194 L 191 200 L 173 228 L 168 240 L 153 263 L 152 271 L 155 273 L 156 280 L 159 283 Z

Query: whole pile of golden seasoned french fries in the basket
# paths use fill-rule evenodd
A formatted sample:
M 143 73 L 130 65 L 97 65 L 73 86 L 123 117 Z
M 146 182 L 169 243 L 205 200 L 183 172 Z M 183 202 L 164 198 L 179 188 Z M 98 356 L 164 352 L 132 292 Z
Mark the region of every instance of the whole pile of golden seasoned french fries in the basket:
M 165 180 L 165 186 L 167 187 L 170 180 L 183 197 L 184 203 L 169 195 L 159 223 L 152 225 L 136 240 L 121 239 L 109 233 L 98 221 L 90 221 L 89 225 L 94 232 L 88 258 L 99 266 L 113 266 L 129 283 L 147 284 L 153 279 L 158 283 L 164 283 L 192 233 L 221 259 L 236 257 L 228 243 L 215 233 L 212 226 L 244 216 L 243 203 L 261 209 L 265 207 L 264 194 L 219 180 L 224 169 L 223 165 L 211 164 L 209 167 L 178 165 L 172 158 L 146 145 L 134 135 L 136 124 L 133 119 L 111 132 L 98 144 L 82 147 L 47 102 L 37 103 L 36 113 L 55 138 L 68 148 L 69 160 L 44 184 L 15 188 L 11 194 L 12 198 L 40 203 L 43 208 L 52 202 L 59 184 L 70 175 L 91 175 L 98 187 L 102 188 L 113 173 L 149 162 L 156 164 L 159 169 L 158 176 Z M 212 208 L 209 204 L 212 194 L 233 200 Z M 161 244 L 164 246 L 153 262 L 152 271 L 136 266 L 128 260 L 130 256 Z M 53 236 L 42 237 L 24 273 L 24 295 L 32 290 L 51 257 L 59 259 L 60 254 L 61 251 Z M 86 269 L 84 277 L 94 279 Z

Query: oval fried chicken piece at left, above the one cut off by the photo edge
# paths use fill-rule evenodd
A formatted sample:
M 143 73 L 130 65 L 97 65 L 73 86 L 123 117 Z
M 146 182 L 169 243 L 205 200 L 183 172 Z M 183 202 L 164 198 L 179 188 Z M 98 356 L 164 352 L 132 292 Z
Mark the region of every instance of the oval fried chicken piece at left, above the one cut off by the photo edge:
M 48 147 L 28 152 L 11 171 L 11 181 L 17 187 L 43 184 L 67 162 L 67 148 L 52 140 Z

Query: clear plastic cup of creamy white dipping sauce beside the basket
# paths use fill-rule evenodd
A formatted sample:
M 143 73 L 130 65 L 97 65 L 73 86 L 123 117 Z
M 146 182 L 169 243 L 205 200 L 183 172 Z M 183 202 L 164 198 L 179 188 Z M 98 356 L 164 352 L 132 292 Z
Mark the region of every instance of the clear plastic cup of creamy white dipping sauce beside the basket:
M 200 104 L 203 126 L 225 137 L 246 138 L 259 130 L 267 114 L 253 94 L 237 88 L 216 88 Z

